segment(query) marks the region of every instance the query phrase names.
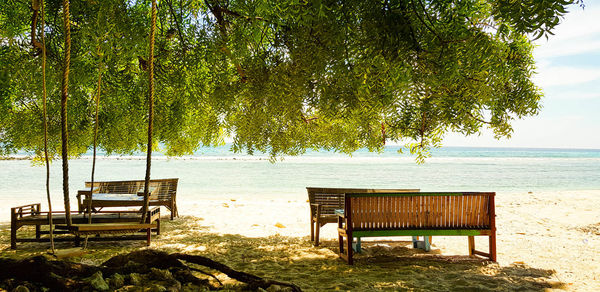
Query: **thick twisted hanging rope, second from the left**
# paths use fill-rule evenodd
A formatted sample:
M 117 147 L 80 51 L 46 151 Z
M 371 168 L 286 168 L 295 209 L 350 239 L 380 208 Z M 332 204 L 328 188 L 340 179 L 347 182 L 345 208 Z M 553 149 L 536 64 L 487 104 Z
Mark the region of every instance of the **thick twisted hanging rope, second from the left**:
M 65 25 L 65 60 L 60 100 L 60 124 L 62 137 L 63 199 L 65 219 L 71 227 L 71 203 L 69 201 L 69 133 L 67 130 L 67 100 L 69 98 L 69 67 L 71 64 L 71 23 L 69 20 L 69 0 L 63 0 L 63 18 Z

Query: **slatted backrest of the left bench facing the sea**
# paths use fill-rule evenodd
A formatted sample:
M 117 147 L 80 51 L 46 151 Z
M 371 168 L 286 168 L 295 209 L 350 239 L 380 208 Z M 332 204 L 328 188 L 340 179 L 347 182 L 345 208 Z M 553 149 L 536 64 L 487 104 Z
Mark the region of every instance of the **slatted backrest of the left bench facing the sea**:
M 177 193 L 178 178 L 151 179 L 149 188 L 152 191 L 152 200 L 171 200 Z M 85 183 L 86 188 L 91 187 L 91 182 Z M 144 191 L 144 180 L 125 181 L 95 181 L 94 193 L 106 194 L 138 194 Z

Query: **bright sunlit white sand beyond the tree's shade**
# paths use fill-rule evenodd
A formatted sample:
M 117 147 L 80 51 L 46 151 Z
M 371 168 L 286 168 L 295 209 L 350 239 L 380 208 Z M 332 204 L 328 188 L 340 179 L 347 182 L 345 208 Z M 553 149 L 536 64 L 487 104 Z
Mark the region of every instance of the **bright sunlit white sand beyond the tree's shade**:
M 182 215 L 202 218 L 210 232 L 248 237 L 310 234 L 305 198 L 261 201 L 232 197 L 180 201 L 178 205 Z M 499 193 L 496 213 L 501 266 L 555 270 L 555 280 L 572 290 L 600 291 L 600 190 Z M 337 238 L 335 224 L 323 227 L 321 238 Z M 487 237 L 477 239 L 476 244 L 477 249 L 487 251 Z M 434 237 L 432 252 L 465 255 L 467 239 Z

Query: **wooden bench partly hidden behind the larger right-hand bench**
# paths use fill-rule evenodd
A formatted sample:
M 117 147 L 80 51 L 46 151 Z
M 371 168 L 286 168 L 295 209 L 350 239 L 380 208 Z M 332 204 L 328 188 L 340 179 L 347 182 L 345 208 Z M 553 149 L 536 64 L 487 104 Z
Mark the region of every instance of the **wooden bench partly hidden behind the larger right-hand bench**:
M 336 223 L 335 210 L 344 209 L 345 193 L 405 193 L 418 189 L 352 189 L 307 187 L 310 203 L 310 240 L 319 245 L 319 230 L 327 223 Z

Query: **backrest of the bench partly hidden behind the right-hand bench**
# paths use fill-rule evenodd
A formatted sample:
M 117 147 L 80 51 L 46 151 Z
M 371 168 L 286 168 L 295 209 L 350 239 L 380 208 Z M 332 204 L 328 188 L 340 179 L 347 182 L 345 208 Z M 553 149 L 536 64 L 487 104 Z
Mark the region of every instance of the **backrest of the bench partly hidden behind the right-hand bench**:
M 354 188 L 315 188 L 307 187 L 310 204 L 321 205 L 321 215 L 334 215 L 335 210 L 344 209 L 346 193 L 406 193 L 419 189 L 354 189 Z M 312 211 L 312 208 L 311 208 Z

